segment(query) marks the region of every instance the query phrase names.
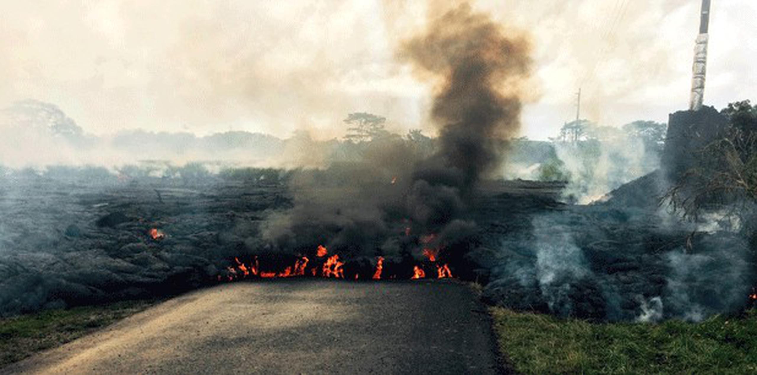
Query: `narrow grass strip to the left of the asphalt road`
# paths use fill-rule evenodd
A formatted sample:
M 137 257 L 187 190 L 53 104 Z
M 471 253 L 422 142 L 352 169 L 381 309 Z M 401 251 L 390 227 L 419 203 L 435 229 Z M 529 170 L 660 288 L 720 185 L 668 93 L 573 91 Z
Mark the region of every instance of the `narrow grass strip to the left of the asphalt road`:
M 0 318 L 0 367 L 77 339 L 156 302 L 124 301 Z

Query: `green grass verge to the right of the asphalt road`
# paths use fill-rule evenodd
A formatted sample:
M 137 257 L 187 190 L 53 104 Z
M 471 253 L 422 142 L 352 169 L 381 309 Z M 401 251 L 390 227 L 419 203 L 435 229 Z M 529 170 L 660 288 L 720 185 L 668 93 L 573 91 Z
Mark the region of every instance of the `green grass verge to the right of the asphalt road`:
M 701 323 L 590 323 L 491 308 L 517 373 L 757 373 L 757 309 Z

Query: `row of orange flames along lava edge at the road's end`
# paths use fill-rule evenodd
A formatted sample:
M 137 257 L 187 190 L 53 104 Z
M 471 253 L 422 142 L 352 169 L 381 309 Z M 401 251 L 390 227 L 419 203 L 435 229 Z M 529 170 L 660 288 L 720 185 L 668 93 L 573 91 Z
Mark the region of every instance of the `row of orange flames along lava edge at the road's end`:
M 426 260 L 412 265 L 412 272 L 407 268 L 407 263 L 402 261 L 388 262 L 384 257 L 375 258 L 371 268 L 366 269 L 365 262 L 354 262 L 347 264 L 347 261 L 339 255 L 329 255 L 326 246 L 319 245 L 315 251 L 313 259 L 307 256 L 300 256 L 294 261 L 270 260 L 268 267 L 261 267 L 261 258 L 255 256 L 249 262 L 240 261 L 234 258 L 235 264 L 226 267 L 228 271 L 225 276 L 219 275 L 221 280 L 238 280 L 248 277 L 276 278 L 276 277 L 325 277 L 334 279 L 349 280 L 382 280 L 382 279 L 425 279 L 451 278 L 452 271 L 448 264 L 438 263 L 439 251 L 436 249 L 424 249 L 422 252 Z

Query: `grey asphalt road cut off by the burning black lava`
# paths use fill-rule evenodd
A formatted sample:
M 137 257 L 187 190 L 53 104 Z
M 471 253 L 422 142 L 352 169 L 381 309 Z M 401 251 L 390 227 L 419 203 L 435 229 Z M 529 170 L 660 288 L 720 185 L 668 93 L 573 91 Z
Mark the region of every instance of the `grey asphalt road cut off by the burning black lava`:
M 485 308 L 447 280 L 230 283 L 0 373 L 497 373 Z

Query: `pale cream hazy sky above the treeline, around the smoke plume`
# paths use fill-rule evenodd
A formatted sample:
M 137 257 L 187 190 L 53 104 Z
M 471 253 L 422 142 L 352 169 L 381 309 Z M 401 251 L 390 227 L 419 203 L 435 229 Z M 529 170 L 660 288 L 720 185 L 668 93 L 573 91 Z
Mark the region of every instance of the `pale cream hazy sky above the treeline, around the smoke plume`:
M 398 45 L 459 1 L 0 0 L 0 107 L 50 102 L 87 133 L 342 136 L 350 112 L 432 133 L 432 88 Z M 522 135 L 687 109 L 699 0 L 479 0 L 531 41 Z M 713 0 L 705 104 L 754 101 L 757 2 Z

